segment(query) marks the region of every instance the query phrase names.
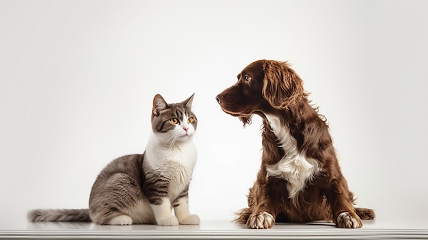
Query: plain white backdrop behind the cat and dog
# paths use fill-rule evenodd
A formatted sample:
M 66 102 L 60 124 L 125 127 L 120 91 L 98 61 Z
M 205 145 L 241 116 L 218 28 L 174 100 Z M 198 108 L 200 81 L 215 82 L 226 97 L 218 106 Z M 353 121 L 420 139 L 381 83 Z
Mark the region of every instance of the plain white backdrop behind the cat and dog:
M 330 122 L 358 205 L 428 214 L 428 1 L 0 0 L 0 227 L 87 208 L 112 159 L 144 152 L 152 98 L 196 92 L 191 211 L 230 221 L 260 164 L 215 96 L 257 59 L 289 60 Z

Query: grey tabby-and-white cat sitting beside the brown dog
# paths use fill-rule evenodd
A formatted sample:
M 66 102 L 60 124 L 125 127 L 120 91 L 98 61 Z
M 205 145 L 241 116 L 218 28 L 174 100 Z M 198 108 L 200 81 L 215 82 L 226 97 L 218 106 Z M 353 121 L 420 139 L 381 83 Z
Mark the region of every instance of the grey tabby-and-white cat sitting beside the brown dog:
M 32 222 L 95 222 L 101 225 L 198 225 L 189 213 L 189 183 L 196 164 L 192 138 L 198 120 L 192 94 L 181 103 L 153 98 L 152 135 L 144 153 L 111 161 L 98 174 L 89 209 L 36 209 Z M 174 215 L 172 215 L 174 209 Z

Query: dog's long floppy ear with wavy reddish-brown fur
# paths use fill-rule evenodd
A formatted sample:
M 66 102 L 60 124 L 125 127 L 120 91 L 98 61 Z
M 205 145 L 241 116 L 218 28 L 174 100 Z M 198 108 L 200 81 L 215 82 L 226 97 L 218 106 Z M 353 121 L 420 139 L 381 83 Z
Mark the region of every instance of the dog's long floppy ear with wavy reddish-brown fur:
M 287 109 L 304 96 L 303 81 L 287 62 L 263 60 L 263 97 L 272 107 Z

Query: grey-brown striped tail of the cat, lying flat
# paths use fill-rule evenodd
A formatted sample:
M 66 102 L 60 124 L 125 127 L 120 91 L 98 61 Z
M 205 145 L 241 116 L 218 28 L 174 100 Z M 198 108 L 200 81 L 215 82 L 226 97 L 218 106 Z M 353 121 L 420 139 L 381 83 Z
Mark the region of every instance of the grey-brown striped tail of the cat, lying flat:
M 27 217 L 31 222 L 91 222 L 89 209 L 35 209 Z

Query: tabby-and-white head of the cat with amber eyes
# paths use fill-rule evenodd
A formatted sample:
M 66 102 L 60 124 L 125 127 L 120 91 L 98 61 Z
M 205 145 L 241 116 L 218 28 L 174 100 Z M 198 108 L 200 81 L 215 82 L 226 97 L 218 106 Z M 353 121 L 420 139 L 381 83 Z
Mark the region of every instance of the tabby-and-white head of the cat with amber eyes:
M 181 103 L 167 103 L 160 94 L 153 98 L 152 129 L 161 142 L 183 142 L 196 131 L 198 120 L 191 111 L 192 94 Z

